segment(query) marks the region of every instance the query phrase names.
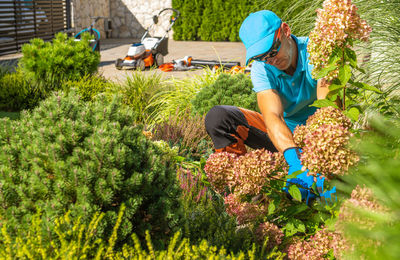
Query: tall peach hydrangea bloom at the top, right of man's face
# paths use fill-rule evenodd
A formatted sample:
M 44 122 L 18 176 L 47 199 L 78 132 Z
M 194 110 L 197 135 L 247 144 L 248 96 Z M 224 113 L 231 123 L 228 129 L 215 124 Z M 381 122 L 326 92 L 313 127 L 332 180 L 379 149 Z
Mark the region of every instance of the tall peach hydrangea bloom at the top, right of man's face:
M 324 68 L 335 47 L 344 48 L 349 39 L 367 41 L 372 31 L 367 22 L 357 14 L 351 0 L 325 0 L 323 9 L 317 10 L 314 30 L 310 33 L 307 46 L 310 63 L 314 65 L 312 75 Z M 325 78 L 332 80 L 339 70 L 330 72 Z

